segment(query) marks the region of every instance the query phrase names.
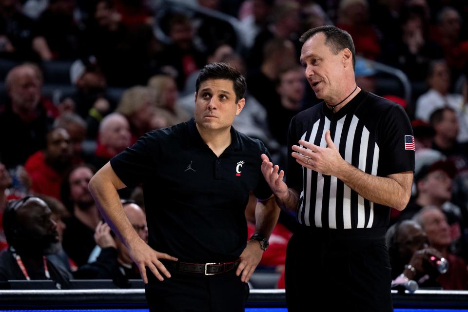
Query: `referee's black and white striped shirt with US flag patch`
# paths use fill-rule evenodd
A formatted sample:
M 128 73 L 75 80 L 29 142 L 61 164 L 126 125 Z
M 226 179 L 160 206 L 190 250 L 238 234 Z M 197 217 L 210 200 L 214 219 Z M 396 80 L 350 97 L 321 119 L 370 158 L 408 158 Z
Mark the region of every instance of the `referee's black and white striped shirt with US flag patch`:
M 390 208 L 365 199 L 335 176 L 303 168 L 291 156 L 300 139 L 326 147 L 325 132 L 343 159 L 374 176 L 414 171 L 414 150 L 405 136 L 412 136 L 402 107 L 361 91 L 336 114 L 324 102 L 296 115 L 290 125 L 286 183 L 299 191 L 300 224 L 331 229 L 386 227 Z

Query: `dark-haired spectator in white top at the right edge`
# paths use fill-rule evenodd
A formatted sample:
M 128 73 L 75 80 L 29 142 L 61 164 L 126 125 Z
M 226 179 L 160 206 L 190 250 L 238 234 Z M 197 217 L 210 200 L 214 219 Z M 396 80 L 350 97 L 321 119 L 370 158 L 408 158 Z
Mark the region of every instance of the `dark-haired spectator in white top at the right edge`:
M 458 140 L 468 141 L 468 104 L 467 98 L 461 94 L 451 94 L 450 70 L 444 60 L 434 60 L 429 64 L 427 82 L 429 91 L 416 101 L 415 117 L 429 121 L 430 115 L 438 108 L 449 107 L 456 113 L 457 124 L 460 126 Z

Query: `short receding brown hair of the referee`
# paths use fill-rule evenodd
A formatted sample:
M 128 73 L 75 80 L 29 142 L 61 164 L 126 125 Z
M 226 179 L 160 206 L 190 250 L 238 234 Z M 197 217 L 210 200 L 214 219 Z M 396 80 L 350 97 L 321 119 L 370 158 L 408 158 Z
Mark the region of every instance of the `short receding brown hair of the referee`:
M 299 38 L 299 41 L 306 42 L 307 39 L 318 33 L 323 33 L 325 35 L 325 44 L 334 55 L 337 55 L 343 49 L 350 49 L 352 54 L 352 67 L 354 68 L 356 65 L 356 49 L 354 48 L 351 35 L 347 31 L 331 25 L 319 26 L 306 31 L 302 34 L 301 38 Z

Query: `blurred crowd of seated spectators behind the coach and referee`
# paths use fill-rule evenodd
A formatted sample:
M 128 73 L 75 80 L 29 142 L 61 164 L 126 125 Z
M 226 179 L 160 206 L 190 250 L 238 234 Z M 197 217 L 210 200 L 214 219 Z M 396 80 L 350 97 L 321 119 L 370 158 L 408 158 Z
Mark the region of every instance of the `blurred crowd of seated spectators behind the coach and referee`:
M 402 105 L 413 126 L 413 196 L 392 210 L 387 239 L 393 278 L 468 289 L 466 17 L 464 0 L 0 0 L 0 217 L 10 199 L 45 205 L 64 280 L 124 287 L 138 274 L 101 222 L 91 176 L 146 132 L 188 120 L 199 69 L 211 62 L 245 75 L 234 128 L 284 167 L 291 118 L 320 102 L 298 62 L 298 38 L 334 24 L 354 40 L 357 84 Z M 382 65 L 406 75 L 410 97 L 389 85 Z M 147 239 L 141 188 L 120 196 Z M 246 217 L 254 224 L 249 209 Z M 14 233 L 4 230 L 0 250 Z M 263 268 L 281 272 L 293 231 L 294 217 L 282 215 Z M 448 259 L 448 271 L 433 270 L 431 257 Z

